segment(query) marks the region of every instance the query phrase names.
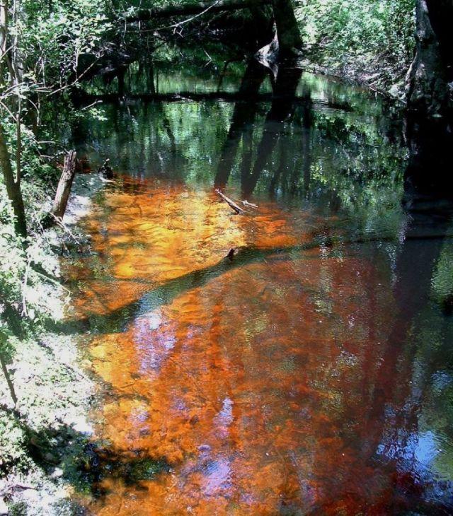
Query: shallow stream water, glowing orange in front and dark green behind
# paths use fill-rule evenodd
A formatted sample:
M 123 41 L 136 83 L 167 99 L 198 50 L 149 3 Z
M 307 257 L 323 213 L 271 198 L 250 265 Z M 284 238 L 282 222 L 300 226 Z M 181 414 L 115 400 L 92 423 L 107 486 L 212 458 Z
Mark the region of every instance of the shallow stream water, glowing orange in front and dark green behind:
M 68 272 L 99 383 L 95 514 L 453 510 L 449 216 L 408 208 L 378 98 L 283 79 L 298 100 L 136 101 L 79 127 L 117 172 Z

